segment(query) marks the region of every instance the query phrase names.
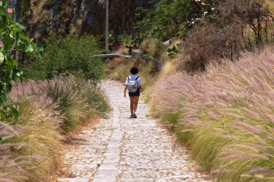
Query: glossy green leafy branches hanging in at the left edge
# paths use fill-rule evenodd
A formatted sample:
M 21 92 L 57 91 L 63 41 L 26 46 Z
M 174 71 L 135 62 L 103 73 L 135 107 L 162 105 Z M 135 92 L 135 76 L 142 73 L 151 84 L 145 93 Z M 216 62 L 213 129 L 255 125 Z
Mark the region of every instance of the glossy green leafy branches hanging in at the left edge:
M 15 22 L 8 16 L 8 1 L 0 1 L 0 41 L 3 47 L 0 47 L 0 104 L 3 110 L 0 110 L 1 120 L 8 122 L 8 116 L 18 118 L 16 109 L 8 106 L 6 94 L 12 90 L 12 81 L 20 79 L 23 81 L 23 71 L 17 68 L 18 63 L 14 55 L 31 55 L 37 51 L 41 55 L 43 48 L 40 44 L 33 42 L 33 38 L 24 35 L 25 25 L 21 22 Z M 12 17 L 15 13 L 13 11 Z

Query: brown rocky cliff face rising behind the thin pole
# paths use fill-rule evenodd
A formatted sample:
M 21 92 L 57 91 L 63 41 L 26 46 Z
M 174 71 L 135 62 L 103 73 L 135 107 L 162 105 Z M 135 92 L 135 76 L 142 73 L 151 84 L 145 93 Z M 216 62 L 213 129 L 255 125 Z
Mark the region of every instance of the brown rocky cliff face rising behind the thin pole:
M 16 0 L 20 4 L 22 0 Z M 133 34 L 134 23 L 142 18 L 136 16 L 137 8 L 147 10 L 157 4 L 146 0 L 109 0 L 109 30 L 114 34 Z M 27 25 L 27 33 L 38 42 L 51 33 L 69 34 L 79 31 L 81 34 L 103 36 L 105 32 L 105 0 L 32 0 L 29 11 L 21 17 Z M 138 9 L 137 9 L 138 10 Z M 21 10 L 16 7 L 17 17 Z

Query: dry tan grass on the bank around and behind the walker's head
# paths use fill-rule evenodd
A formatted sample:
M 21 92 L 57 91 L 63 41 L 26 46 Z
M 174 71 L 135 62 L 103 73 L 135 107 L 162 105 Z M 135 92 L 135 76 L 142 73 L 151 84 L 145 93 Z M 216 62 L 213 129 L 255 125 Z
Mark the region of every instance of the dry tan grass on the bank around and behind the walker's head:
M 179 40 L 174 40 L 175 43 L 179 43 Z M 104 70 L 108 74 L 108 78 L 119 80 L 124 83 L 125 78 L 130 75 L 129 69 L 132 66 L 137 66 L 139 69 L 138 75 L 142 78 L 142 94 L 143 99 L 149 102 L 148 95 L 151 93 L 151 86 L 158 76 L 165 77 L 166 75 L 171 75 L 175 72 L 175 64 L 169 62 L 169 57 L 167 56 L 168 47 L 159 44 L 156 40 L 152 38 L 147 38 L 142 44 L 140 44 L 140 50 L 143 51 L 144 57 L 136 57 L 134 62 L 129 62 L 125 58 L 115 58 L 111 62 L 105 64 Z M 114 53 L 127 55 L 128 49 L 121 47 L 121 49 L 115 51 Z M 156 58 L 162 64 L 166 64 L 161 72 L 156 70 L 155 65 L 149 56 Z

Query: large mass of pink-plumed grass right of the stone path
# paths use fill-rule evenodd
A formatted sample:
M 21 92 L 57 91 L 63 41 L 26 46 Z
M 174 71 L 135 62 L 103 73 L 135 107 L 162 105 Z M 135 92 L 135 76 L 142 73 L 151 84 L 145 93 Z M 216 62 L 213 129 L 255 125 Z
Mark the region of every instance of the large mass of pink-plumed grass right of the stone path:
M 155 82 L 154 115 L 219 181 L 273 181 L 273 53 L 242 53 L 206 74 Z M 260 178 L 259 178 L 260 177 Z

